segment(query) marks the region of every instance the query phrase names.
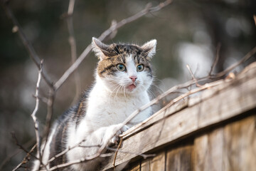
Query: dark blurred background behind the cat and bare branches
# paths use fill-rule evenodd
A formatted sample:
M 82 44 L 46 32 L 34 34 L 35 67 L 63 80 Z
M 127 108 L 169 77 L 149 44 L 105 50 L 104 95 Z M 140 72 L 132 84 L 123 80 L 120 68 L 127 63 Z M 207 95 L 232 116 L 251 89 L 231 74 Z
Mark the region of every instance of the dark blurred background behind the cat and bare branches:
M 120 21 L 160 1 L 87 0 L 76 1 L 73 26 L 78 56 L 110 27 L 112 20 Z M 65 18 L 68 0 L 11 0 L 10 6 L 52 81 L 58 81 L 71 64 L 68 27 Z M 223 71 L 240 60 L 256 45 L 255 0 L 179 0 L 161 11 L 147 14 L 141 19 L 119 28 L 117 35 L 105 43 L 123 42 L 142 45 L 157 40 L 156 56 L 152 61 L 155 86 L 167 90 L 171 86 L 191 79 L 186 64 L 197 77 L 207 76 L 221 43 L 220 61 L 215 73 Z M 31 113 L 35 107 L 38 69 L 23 46 L 13 24 L 0 9 L 0 168 L 11 170 L 25 156 L 18 150 L 11 131 L 24 147 L 35 142 Z M 240 71 L 255 61 L 255 56 L 236 68 Z M 78 71 L 82 90 L 92 84 L 97 58 L 90 53 Z M 48 87 L 41 81 L 40 95 L 47 97 Z M 58 90 L 54 103 L 54 118 L 71 105 L 75 97 L 74 75 Z M 40 103 L 38 120 L 45 123 L 46 104 Z

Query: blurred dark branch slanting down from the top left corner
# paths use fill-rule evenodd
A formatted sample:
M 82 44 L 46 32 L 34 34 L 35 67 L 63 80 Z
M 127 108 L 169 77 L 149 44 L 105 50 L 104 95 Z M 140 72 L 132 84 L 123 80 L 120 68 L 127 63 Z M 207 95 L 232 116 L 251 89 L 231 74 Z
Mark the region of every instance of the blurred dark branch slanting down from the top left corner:
M 28 38 L 26 38 L 26 35 L 25 35 L 23 29 L 21 28 L 21 25 L 18 23 L 18 21 L 17 21 L 16 17 L 14 16 L 13 12 L 9 8 L 9 1 L 1 0 L 1 4 L 4 6 L 4 9 L 6 11 L 6 15 L 9 16 L 9 18 L 11 19 L 11 21 L 14 24 L 13 31 L 18 31 L 18 36 L 21 38 L 21 41 L 22 41 L 23 45 L 25 46 L 28 53 L 30 54 L 33 62 L 36 63 L 36 66 L 38 67 L 38 69 L 40 69 L 40 67 L 41 67 L 41 58 L 39 58 L 39 56 L 37 55 L 35 49 L 33 48 L 32 44 L 31 44 L 31 42 L 28 41 Z M 53 88 L 53 82 L 50 81 L 50 78 L 48 78 L 47 74 L 45 72 L 42 72 L 42 76 L 43 76 L 43 79 L 48 84 L 48 86 L 50 86 L 50 88 Z

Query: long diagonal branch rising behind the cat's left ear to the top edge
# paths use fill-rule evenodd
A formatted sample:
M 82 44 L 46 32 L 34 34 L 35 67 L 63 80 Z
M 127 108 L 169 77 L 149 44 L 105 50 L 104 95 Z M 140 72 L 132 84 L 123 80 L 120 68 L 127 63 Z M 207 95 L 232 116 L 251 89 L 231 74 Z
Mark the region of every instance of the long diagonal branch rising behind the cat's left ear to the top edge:
M 130 16 L 127 19 L 123 19 L 122 21 L 119 21 L 117 24 L 112 24 L 110 26 L 110 28 L 108 28 L 106 31 L 104 31 L 100 35 L 100 37 L 98 39 L 100 41 L 104 41 L 105 38 L 110 36 L 118 28 L 121 28 L 125 24 L 129 24 L 132 21 L 135 21 L 135 20 L 141 18 L 142 16 L 148 14 L 149 12 L 159 11 L 160 9 L 164 8 L 164 6 L 171 4 L 171 2 L 172 2 L 172 0 L 166 0 L 163 3 L 160 3 L 158 6 L 154 6 L 152 8 L 150 8 L 151 4 L 147 4 L 145 9 L 143 9 L 142 11 L 139 11 L 139 13 L 137 13 L 137 14 L 134 14 L 134 16 Z M 91 49 L 92 49 L 91 45 L 89 45 L 89 46 L 87 46 L 87 48 L 85 48 L 85 50 L 78 57 L 78 59 L 75 61 L 75 63 L 73 63 L 73 65 L 70 66 L 70 68 L 68 68 L 68 70 L 65 71 L 63 76 L 61 76 L 60 79 L 54 84 L 55 90 L 58 90 L 58 88 L 60 88 L 60 86 L 63 85 L 63 83 L 67 80 L 67 78 L 75 71 L 75 69 L 78 68 L 78 66 L 80 66 L 80 63 L 85 59 L 85 57 L 91 51 Z

